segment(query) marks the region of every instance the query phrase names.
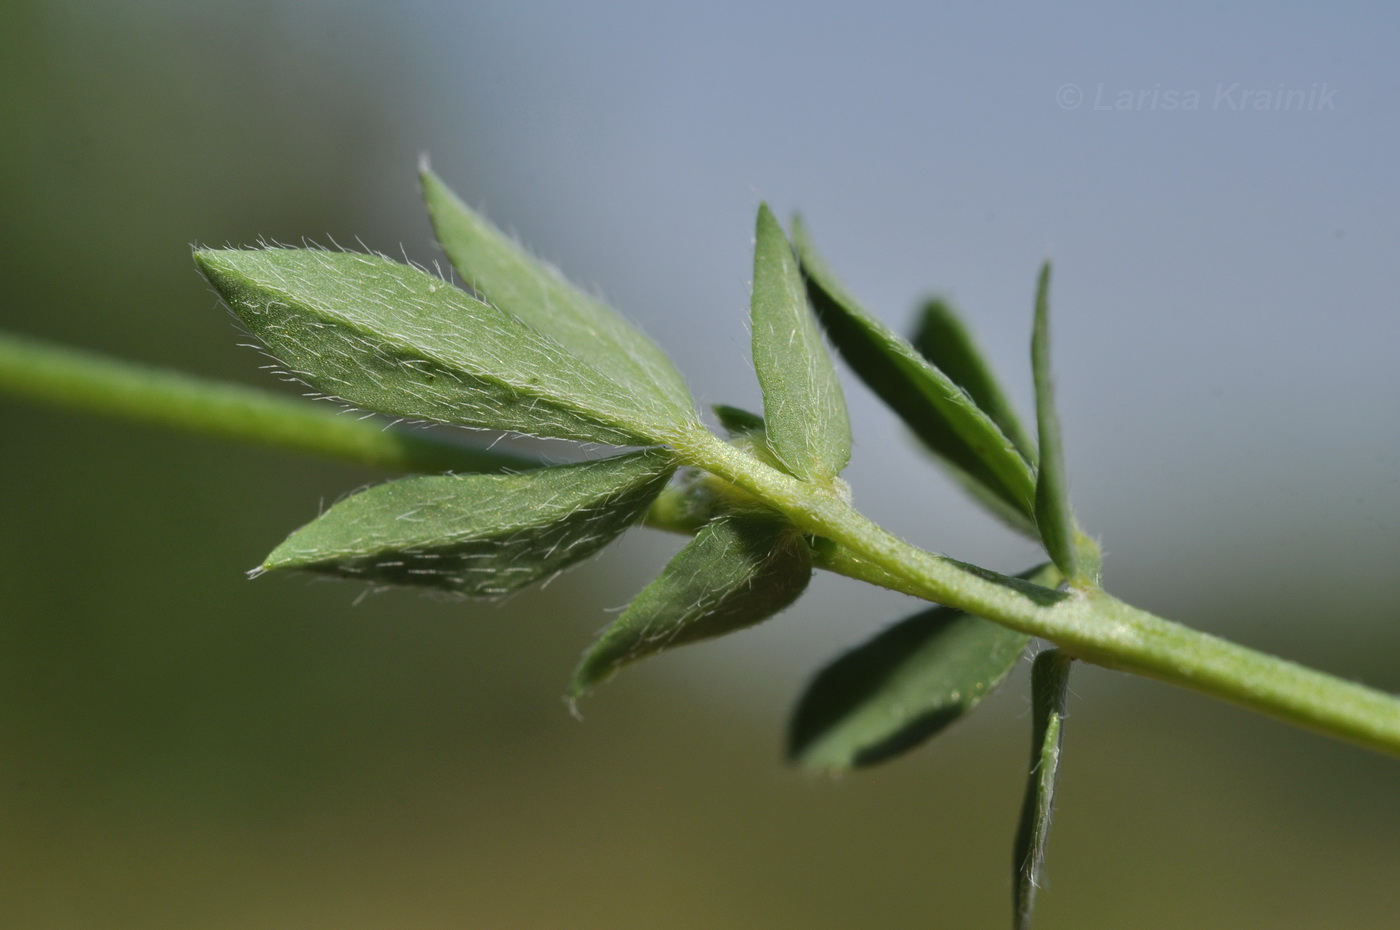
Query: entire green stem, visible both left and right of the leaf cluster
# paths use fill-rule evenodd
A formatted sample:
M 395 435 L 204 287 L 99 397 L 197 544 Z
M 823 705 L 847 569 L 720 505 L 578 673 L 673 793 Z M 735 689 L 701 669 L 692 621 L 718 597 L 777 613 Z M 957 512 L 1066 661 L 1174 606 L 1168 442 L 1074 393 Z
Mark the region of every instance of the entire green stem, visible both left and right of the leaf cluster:
M 539 461 L 385 429 L 260 389 L 157 371 L 0 333 L 0 392 L 185 431 L 410 472 L 501 471 Z M 1273 714 L 1400 755 L 1400 699 L 1198 633 L 1096 590 L 1057 592 L 911 546 L 855 511 L 834 487 L 799 482 L 700 429 L 671 437 L 678 455 L 785 513 L 819 536 L 818 564 L 956 606 L 1039 636 L 1067 654 Z M 648 522 L 694 531 L 664 496 Z

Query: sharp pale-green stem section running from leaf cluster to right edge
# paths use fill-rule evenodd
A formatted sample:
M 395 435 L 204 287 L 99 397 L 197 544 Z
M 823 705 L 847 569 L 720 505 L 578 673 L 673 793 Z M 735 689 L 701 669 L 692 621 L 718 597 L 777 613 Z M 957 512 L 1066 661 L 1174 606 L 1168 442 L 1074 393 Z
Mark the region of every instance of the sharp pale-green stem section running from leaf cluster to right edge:
M 865 563 L 872 576 L 897 581 L 886 587 L 1050 640 L 1074 658 L 1400 755 L 1400 698 L 1172 623 L 1100 590 L 1050 591 L 924 552 L 871 522 L 833 489 L 784 475 L 710 433 L 676 436 L 673 447 L 687 464 L 843 546 L 848 552 L 843 564 L 853 574 Z

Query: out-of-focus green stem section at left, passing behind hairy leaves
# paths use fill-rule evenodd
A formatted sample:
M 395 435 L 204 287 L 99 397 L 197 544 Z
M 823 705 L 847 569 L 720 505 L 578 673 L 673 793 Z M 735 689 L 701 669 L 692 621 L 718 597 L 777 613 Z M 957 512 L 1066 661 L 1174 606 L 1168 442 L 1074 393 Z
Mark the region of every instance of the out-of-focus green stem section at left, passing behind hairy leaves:
M 386 429 L 329 403 L 195 378 L 0 332 L 0 392 L 225 440 L 405 472 L 497 472 L 538 459 Z

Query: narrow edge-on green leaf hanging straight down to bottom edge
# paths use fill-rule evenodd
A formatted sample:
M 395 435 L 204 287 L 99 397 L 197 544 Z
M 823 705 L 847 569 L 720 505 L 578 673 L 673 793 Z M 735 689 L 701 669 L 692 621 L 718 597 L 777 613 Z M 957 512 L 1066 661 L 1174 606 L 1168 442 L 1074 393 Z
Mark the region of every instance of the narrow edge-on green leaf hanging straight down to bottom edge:
M 1016 846 L 1012 857 L 1015 881 L 1012 909 L 1016 930 L 1030 930 L 1030 913 L 1044 870 L 1050 817 L 1054 812 L 1054 789 L 1060 776 L 1060 747 L 1064 741 L 1065 700 L 1070 690 L 1068 655 L 1046 650 L 1030 667 L 1030 700 L 1035 714 L 1030 737 L 1030 777 L 1021 805 Z

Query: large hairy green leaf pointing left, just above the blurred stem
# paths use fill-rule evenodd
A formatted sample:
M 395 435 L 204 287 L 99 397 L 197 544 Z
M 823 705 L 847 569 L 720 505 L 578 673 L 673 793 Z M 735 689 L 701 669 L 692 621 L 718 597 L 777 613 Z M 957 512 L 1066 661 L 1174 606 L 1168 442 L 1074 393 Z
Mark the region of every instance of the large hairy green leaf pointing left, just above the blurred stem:
M 195 261 L 291 375 L 368 410 L 616 445 L 665 443 L 693 416 L 378 255 L 204 249 Z

